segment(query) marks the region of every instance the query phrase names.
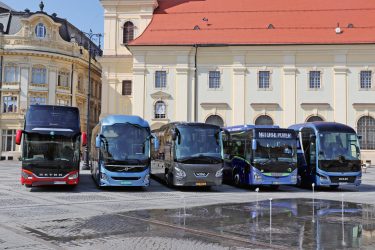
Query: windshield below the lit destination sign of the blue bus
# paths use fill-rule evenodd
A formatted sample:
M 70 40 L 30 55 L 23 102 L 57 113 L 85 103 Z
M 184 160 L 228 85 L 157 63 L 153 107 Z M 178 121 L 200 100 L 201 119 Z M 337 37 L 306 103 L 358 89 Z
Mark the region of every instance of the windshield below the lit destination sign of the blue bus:
M 297 141 L 293 139 L 257 139 L 254 161 L 296 161 Z

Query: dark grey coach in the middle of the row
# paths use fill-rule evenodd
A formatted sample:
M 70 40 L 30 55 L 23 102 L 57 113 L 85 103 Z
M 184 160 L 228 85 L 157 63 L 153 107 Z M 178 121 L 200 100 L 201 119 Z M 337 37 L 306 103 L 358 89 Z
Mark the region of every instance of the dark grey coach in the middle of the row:
M 222 130 L 205 123 L 175 122 L 153 131 L 151 173 L 171 186 L 221 185 Z

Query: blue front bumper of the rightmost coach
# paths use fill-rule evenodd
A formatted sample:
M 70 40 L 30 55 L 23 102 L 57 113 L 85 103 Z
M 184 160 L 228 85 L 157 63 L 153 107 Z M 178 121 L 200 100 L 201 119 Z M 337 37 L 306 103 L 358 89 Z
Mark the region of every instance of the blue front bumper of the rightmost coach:
M 316 175 L 317 186 L 355 185 L 362 183 L 361 172 L 332 173 L 319 171 Z

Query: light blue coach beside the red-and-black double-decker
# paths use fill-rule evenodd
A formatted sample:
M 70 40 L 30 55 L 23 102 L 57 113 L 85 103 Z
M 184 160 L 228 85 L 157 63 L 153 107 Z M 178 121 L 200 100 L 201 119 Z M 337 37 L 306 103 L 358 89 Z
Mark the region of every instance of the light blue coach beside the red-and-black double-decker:
M 100 187 L 150 185 L 150 126 L 138 116 L 110 115 L 93 129 L 90 170 Z

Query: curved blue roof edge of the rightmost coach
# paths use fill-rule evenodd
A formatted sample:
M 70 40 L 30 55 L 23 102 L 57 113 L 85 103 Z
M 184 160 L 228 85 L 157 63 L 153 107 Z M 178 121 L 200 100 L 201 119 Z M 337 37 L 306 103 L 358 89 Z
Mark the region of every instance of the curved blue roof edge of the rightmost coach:
M 290 129 L 296 131 L 301 130 L 302 128 L 312 128 L 315 131 L 320 132 L 344 132 L 344 133 L 355 133 L 355 130 L 342 123 L 337 122 L 306 122 L 290 126 Z

